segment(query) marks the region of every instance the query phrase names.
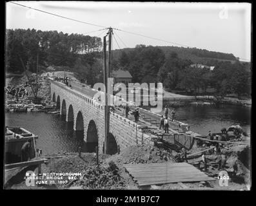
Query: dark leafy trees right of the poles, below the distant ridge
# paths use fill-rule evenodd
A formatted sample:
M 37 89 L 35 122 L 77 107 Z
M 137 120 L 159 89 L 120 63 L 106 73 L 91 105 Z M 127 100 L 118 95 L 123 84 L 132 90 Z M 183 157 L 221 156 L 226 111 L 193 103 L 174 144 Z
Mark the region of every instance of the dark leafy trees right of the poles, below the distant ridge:
M 208 65 L 215 66 L 211 71 L 192 68 L 190 65 L 195 62 L 182 59 L 176 52 L 165 55 L 159 47 L 137 45 L 133 50 L 123 50 L 115 63 L 117 68 L 130 71 L 133 82 L 162 82 L 166 89 L 185 90 L 195 95 L 199 89 L 206 93 L 207 88 L 215 90 L 216 95 L 250 95 L 251 74 L 246 70 L 249 62 L 215 61 L 215 65 Z

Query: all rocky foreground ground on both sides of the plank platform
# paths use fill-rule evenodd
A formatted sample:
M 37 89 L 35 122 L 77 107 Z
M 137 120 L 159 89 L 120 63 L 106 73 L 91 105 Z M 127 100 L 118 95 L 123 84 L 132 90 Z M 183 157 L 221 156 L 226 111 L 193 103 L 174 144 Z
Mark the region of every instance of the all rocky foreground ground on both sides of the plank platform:
M 197 148 L 201 151 L 205 148 Z M 250 189 L 250 164 L 248 164 L 248 153 L 250 148 L 246 145 L 231 145 L 222 149 L 227 156 L 226 169 L 231 168 L 233 159 L 238 156 L 239 169 L 237 176 L 231 176 L 228 187 L 221 187 L 217 174 L 220 170 L 214 164 L 216 154 L 206 154 L 208 158 L 208 169 L 204 171 L 209 176 L 215 177 L 215 181 L 210 182 L 186 182 L 186 183 L 168 183 L 164 185 L 152 185 L 148 187 L 139 187 L 133 181 L 132 176 L 124 168 L 124 164 L 148 164 L 161 162 L 176 162 L 174 156 L 166 151 L 162 151 L 153 145 L 134 145 L 127 147 L 120 154 L 99 155 L 99 165 L 96 162 L 95 153 L 57 153 L 48 158 L 47 164 L 42 165 L 42 173 L 82 173 L 79 180 L 67 180 L 66 183 L 55 183 L 55 185 L 41 185 L 37 189 L 161 189 L 161 190 L 248 190 Z M 193 164 L 201 160 L 201 156 L 195 156 L 188 160 Z M 202 167 L 201 167 L 202 170 Z M 20 172 L 19 172 L 20 173 Z M 19 174 L 18 173 L 18 174 Z M 23 174 L 23 173 L 20 173 Z M 9 183 L 10 189 L 34 189 L 26 187 L 25 181 Z

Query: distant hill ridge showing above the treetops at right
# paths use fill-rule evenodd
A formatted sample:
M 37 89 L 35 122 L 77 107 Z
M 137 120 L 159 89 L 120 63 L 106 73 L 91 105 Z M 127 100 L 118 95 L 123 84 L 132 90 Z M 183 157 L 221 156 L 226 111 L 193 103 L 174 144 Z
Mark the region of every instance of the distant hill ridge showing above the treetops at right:
M 168 57 L 170 53 L 177 53 L 178 57 L 181 59 L 191 60 L 193 63 L 206 64 L 209 66 L 215 65 L 219 61 L 230 61 L 234 63 L 237 58 L 232 53 L 222 53 L 222 52 L 212 52 L 208 50 L 201 50 L 198 48 L 184 48 L 178 46 L 155 46 L 160 48 L 162 52 Z M 124 52 L 130 52 L 134 48 L 124 48 Z M 114 50 L 113 57 L 119 59 L 121 55 L 121 50 Z

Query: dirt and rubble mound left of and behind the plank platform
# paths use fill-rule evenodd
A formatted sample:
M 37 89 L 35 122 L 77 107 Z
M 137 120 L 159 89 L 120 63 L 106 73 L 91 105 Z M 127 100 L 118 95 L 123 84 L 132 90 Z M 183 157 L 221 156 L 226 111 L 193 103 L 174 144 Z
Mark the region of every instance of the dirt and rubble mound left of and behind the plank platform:
M 42 165 L 42 173 L 82 173 L 79 180 L 66 183 L 41 185 L 39 189 L 138 189 L 137 183 L 125 171 L 124 164 L 175 161 L 171 154 L 164 153 L 152 145 L 135 145 L 127 147 L 120 154 L 112 156 L 99 154 L 99 165 L 95 153 L 58 153 L 50 156 L 47 164 Z M 24 177 L 23 177 L 24 178 Z M 23 182 L 9 184 L 12 189 L 29 189 Z

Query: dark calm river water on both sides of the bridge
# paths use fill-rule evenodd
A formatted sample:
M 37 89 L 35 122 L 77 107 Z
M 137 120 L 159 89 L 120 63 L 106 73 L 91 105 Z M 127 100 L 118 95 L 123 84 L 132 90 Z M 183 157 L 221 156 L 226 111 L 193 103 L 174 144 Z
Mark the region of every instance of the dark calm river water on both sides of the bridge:
M 250 133 L 251 109 L 241 106 L 186 106 L 176 108 L 177 120 L 190 124 L 190 129 L 201 135 L 220 132 L 222 127 L 241 124 L 244 131 Z M 44 154 L 60 151 L 77 152 L 83 146 L 83 135 L 77 135 L 72 126 L 61 119 L 60 115 L 46 113 L 5 113 L 5 125 L 24 127 L 38 135 L 37 148 L 43 149 Z

